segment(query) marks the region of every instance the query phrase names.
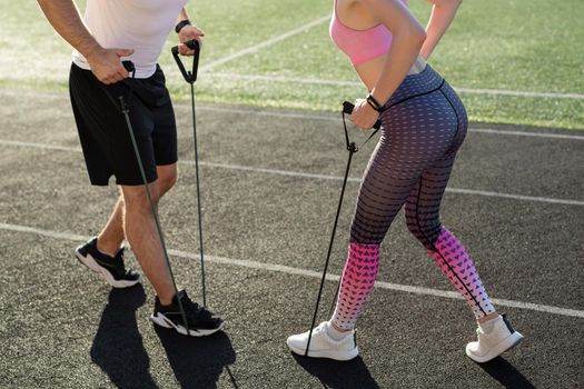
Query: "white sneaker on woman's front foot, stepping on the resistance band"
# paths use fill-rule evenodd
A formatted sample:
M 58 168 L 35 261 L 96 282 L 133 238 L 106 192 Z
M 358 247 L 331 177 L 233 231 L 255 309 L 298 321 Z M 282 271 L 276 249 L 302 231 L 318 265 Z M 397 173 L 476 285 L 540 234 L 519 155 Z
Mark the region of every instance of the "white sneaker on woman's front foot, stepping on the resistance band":
M 327 333 L 327 326 L 328 322 L 323 321 L 313 330 L 308 357 L 349 360 L 359 355 L 359 349 L 355 342 L 355 330 L 347 332 L 339 340 L 335 340 Z M 308 343 L 308 332 L 293 335 L 286 340 L 286 345 L 293 352 L 304 356 Z

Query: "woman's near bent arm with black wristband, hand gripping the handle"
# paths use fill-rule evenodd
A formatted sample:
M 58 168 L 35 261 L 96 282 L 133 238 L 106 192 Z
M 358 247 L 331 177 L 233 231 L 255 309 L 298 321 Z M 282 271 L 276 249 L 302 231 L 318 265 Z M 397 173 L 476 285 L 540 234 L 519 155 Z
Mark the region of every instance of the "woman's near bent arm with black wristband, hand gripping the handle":
M 418 57 L 426 32 L 399 0 L 358 1 L 368 8 L 370 14 L 377 17 L 393 36 L 384 70 L 370 91 L 375 100 L 384 104 L 399 87 Z M 358 102 L 352 114 L 352 121 L 363 129 L 372 128 L 377 118 L 378 112 L 366 102 Z

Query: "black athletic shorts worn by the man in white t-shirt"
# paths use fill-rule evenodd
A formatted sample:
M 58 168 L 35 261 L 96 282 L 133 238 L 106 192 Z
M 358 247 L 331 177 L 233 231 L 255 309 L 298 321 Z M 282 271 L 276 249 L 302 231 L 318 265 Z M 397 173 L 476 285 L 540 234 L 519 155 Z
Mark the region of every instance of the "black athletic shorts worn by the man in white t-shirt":
M 130 88 L 130 122 L 147 181 L 158 178 L 157 166 L 177 162 L 175 111 L 165 81 L 158 66 L 150 78 L 127 79 L 111 86 L 99 82 L 91 71 L 71 66 L 71 104 L 92 184 L 107 186 L 111 176 L 117 184 L 143 184 L 118 99 L 127 99 Z

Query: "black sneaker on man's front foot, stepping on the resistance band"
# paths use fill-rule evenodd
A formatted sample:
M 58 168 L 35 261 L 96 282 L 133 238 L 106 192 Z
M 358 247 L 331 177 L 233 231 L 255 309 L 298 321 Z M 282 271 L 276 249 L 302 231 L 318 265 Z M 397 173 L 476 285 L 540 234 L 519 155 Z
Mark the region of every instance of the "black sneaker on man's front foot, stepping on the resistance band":
M 180 315 L 177 296 L 172 298 L 172 303 L 169 306 L 162 306 L 157 296 L 155 312 L 150 319 L 160 327 L 174 328 L 178 333 L 191 337 L 206 337 L 222 330 L 225 322 L 198 303 L 192 302 L 185 290 L 178 292 L 178 298 L 182 303 L 185 316 L 187 317 L 188 333 L 185 328 L 182 315 Z

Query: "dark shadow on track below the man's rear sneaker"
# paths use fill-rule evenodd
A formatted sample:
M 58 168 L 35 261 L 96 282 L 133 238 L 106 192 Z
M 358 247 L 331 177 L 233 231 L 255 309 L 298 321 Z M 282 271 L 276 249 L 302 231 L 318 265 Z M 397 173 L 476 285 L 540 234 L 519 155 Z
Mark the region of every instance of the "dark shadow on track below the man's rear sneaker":
M 118 388 L 158 388 L 136 321 L 136 310 L 145 302 L 141 285 L 112 289 L 93 338 L 91 360 Z

